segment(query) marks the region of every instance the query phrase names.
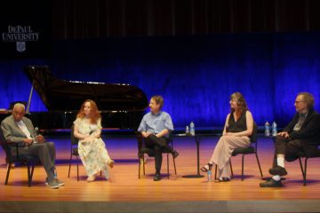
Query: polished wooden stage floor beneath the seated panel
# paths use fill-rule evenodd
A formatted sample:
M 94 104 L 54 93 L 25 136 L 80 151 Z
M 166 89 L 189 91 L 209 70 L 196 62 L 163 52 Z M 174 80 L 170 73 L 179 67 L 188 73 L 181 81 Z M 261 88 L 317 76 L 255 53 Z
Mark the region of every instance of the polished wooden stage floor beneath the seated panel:
M 244 159 L 245 179 L 241 181 L 241 156 L 232 157 L 235 177 L 227 183 L 208 182 L 206 177 L 184 178 L 196 174 L 196 143 L 192 138 L 174 138 L 178 175 L 153 181 L 154 160 L 148 158 L 146 176 L 138 178 L 137 142 L 134 136 L 104 136 L 109 155 L 116 161 L 109 181 L 99 177 L 87 183 L 80 163 L 80 181 L 76 181 L 76 162 L 68 178 L 70 142 L 68 136 L 48 138 L 57 146 L 58 177 L 66 185 L 50 189 L 44 185 L 45 172 L 36 167 L 31 187 L 27 169 L 11 171 L 4 185 L 6 165 L 0 151 L 0 212 L 316 212 L 320 209 L 320 159 L 308 162 L 308 183 L 302 185 L 299 162 L 286 162 L 288 175 L 282 188 L 260 188 L 260 172 L 254 155 Z M 200 165 L 212 154 L 217 137 L 204 137 L 200 144 Z M 259 138 L 262 171 L 268 177 L 273 145 L 270 138 Z

